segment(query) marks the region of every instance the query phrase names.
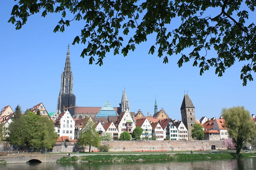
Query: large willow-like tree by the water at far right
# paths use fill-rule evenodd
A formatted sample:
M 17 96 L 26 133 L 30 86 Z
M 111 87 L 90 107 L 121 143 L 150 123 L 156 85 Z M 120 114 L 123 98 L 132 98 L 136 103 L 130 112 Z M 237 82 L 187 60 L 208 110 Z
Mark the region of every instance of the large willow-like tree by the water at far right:
M 250 112 L 243 106 L 223 108 L 222 116 L 225 119 L 225 127 L 232 138 L 236 152 L 240 153 L 245 141 L 255 135 L 255 123 L 251 119 Z

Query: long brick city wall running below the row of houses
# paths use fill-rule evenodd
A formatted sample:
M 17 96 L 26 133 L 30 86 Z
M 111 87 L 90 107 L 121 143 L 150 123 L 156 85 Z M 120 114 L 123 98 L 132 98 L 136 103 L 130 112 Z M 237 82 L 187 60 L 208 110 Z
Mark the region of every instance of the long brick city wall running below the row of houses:
M 88 152 L 89 146 L 81 147 L 75 142 L 56 142 L 53 152 Z M 133 152 L 135 150 L 167 150 L 189 151 L 208 149 L 215 146 L 216 150 L 226 150 L 223 141 L 101 141 L 101 145 L 109 145 L 110 152 Z M 98 150 L 91 147 L 91 150 Z

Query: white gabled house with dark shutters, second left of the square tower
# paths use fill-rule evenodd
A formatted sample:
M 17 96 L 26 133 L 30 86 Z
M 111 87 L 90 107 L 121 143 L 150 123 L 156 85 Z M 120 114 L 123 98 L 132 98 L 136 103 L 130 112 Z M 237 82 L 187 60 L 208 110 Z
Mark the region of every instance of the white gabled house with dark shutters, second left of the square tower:
M 171 141 L 178 140 L 178 129 L 171 118 L 161 120 L 160 125 L 164 129 L 166 137 L 170 137 Z

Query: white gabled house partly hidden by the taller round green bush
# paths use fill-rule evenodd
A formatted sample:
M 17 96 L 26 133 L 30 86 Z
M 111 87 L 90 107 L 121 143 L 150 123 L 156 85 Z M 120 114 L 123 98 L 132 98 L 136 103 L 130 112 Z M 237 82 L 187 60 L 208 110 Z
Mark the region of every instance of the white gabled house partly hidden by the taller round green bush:
M 152 138 L 152 126 L 147 118 L 140 118 L 136 121 L 136 127 L 141 127 L 143 132 L 141 134 L 141 139 L 147 137 Z

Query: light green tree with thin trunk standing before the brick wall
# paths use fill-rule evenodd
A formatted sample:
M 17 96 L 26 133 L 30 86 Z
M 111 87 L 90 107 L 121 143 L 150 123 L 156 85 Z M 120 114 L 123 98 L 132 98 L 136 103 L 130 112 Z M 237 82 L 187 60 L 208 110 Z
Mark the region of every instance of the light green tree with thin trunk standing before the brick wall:
M 94 127 L 92 121 L 88 121 L 83 130 L 79 134 L 78 145 L 89 146 L 89 152 L 91 152 L 91 146 L 99 147 L 99 133 Z

